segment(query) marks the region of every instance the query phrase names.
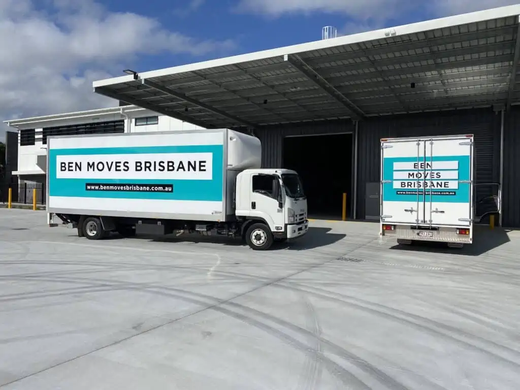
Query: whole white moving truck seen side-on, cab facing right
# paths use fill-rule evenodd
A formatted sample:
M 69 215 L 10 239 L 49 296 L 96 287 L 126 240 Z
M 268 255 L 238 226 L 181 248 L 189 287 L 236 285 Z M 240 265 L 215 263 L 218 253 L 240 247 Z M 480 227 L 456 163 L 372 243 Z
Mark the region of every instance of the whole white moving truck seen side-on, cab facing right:
M 110 231 L 238 236 L 252 249 L 305 235 L 294 171 L 261 169 L 260 141 L 229 129 L 47 138 L 49 226 L 98 240 Z

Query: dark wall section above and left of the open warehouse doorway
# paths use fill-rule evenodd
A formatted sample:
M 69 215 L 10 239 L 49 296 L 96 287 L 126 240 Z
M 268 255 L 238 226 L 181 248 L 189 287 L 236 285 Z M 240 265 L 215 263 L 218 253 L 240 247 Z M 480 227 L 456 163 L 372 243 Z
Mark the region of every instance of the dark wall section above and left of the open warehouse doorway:
M 279 168 L 283 162 L 283 138 L 323 134 L 353 133 L 354 124 L 350 120 L 307 122 L 297 125 L 265 126 L 255 130 L 262 142 L 262 166 Z

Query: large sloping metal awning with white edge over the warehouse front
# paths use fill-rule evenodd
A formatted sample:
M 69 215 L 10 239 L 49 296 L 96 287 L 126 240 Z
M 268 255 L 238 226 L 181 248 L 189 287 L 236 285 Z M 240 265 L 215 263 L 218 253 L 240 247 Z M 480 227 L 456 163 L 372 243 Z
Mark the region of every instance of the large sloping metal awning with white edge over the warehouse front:
M 520 102 L 520 5 L 93 83 L 207 127 L 261 126 Z

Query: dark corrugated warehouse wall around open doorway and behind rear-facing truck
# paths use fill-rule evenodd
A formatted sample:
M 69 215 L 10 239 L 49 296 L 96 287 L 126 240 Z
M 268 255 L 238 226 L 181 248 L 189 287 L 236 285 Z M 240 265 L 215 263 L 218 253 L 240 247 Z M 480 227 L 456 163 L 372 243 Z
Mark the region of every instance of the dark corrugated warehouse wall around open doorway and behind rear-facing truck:
M 517 122 L 520 122 L 520 110 L 517 114 Z M 283 138 L 286 136 L 337 134 L 354 132 L 354 129 L 351 121 L 342 120 L 267 126 L 257 129 L 255 135 L 262 141 L 262 164 L 264 167 L 271 168 L 282 165 Z M 381 138 L 459 134 L 475 135 L 477 183 L 498 183 L 500 114 L 494 113 L 491 109 L 384 116 L 361 121 L 358 130 L 357 217 L 360 219 L 365 217 L 365 183 L 380 180 Z M 520 136 L 516 137 L 516 142 L 520 142 Z M 517 159 L 520 161 L 520 158 Z M 477 199 L 491 194 L 491 191 L 492 187 L 477 186 Z M 518 194 L 520 190 L 517 199 Z M 517 208 L 520 209 L 520 205 Z M 520 210 L 517 214 L 520 219 Z

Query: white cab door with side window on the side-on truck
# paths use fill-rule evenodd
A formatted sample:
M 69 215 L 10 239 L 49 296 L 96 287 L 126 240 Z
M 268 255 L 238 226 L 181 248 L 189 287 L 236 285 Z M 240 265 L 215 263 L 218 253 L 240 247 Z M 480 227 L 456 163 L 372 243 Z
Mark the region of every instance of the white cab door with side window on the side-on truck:
M 253 174 L 251 177 L 251 216 L 265 219 L 271 230 L 283 231 L 285 214 L 278 207 L 280 179 L 276 175 Z M 280 229 L 281 228 L 281 229 Z

